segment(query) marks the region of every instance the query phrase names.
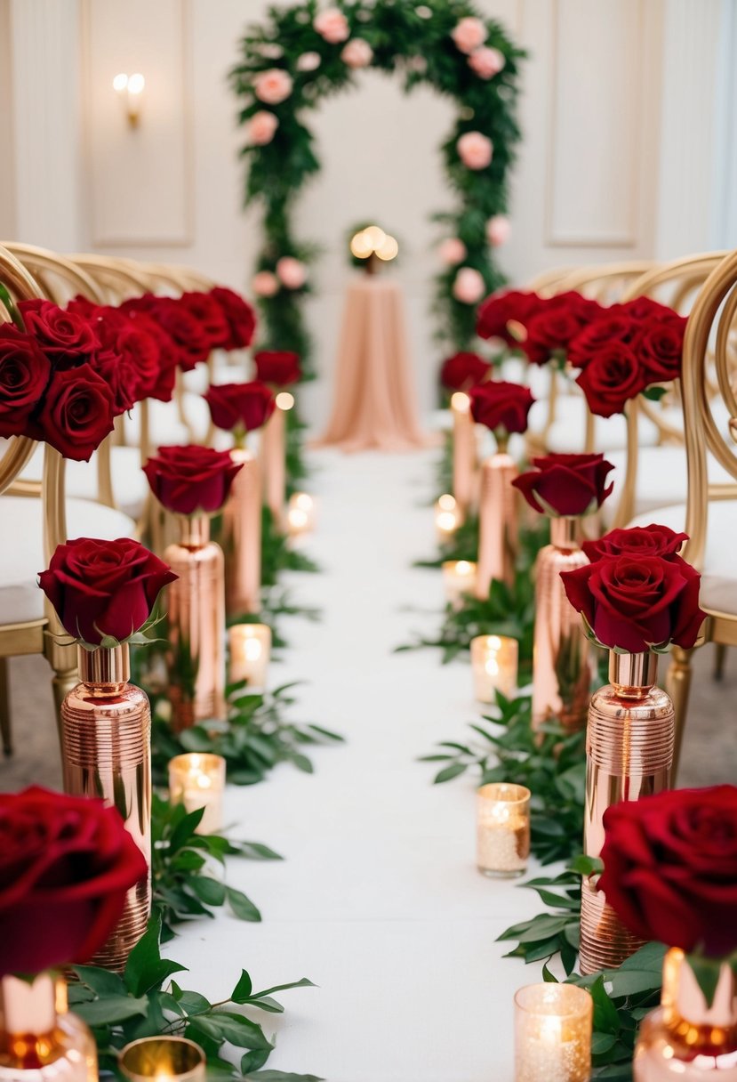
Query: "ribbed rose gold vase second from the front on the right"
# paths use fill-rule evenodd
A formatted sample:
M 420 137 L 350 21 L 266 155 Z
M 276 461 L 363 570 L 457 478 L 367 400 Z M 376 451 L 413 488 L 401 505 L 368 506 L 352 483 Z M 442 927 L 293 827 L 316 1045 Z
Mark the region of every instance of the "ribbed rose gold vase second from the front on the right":
M 673 704 L 655 687 L 655 654 L 609 654 L 609 681 L 594 692 L 586 737 L 584 852 L 599 857 L 604 812 L 670 787 Z M 597 890 L 595 876 L 581 885 L 580 971 L 613 968 L 642 947 Z

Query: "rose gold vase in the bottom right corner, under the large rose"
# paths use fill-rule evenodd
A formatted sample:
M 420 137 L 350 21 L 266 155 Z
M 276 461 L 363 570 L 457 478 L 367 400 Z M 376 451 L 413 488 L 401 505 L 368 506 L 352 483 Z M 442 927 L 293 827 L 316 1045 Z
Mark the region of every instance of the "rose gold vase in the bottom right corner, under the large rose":
M 660 1006 L 640 1025 L 633 1073 L 634 1082 L 737 1082 L 737 985 L 726 962 L 709 1007 L 683 951 L 668 951 Z

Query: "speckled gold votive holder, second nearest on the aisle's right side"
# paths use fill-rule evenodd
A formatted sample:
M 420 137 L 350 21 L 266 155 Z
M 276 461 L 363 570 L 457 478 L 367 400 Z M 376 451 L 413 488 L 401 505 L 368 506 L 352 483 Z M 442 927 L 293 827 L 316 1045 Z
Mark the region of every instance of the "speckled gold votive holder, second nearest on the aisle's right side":
M 530 857 L 530 790 L 493 781 L 477 790 L 475 862 L 490 879 L 522 875 Z

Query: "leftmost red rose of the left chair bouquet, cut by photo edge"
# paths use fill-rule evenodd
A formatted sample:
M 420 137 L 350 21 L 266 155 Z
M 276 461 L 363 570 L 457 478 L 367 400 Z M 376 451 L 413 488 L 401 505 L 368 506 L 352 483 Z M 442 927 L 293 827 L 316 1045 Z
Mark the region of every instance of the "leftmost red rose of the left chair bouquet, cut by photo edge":
M 49 358 L 30 334 L 0 324 L 0 436 L 29 432 L 29 418 L 51 375 Z

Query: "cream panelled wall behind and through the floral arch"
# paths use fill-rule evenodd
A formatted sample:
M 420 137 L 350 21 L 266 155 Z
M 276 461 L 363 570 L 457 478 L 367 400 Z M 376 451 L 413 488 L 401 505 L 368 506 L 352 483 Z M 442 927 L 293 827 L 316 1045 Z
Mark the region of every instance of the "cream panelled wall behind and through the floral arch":
M 501 252 L 511 278 L 737 243 L 725 190 L 737 155 L 734 0 L 478 3 L 531 53 L 513 232 Z M 245 23 L 267 6 L 0 0 L 0 61 L 12 52 L 10 74 L 0 64 L 0 90 L 3 78 L 12 83 L 0 138 L 12 129 L 14 148 L 13 169 L 0 170 L 0 224 L 23 240 L 188 262 L 247 287 L 257 223 L 241 210 L 226 72 Z M 146 76 L 136 131 L 111 89 L 119 70 Z M 345 229 L 376 216 L 400 235 L 403 258 L 391 273 L 406 291 L 425 407 L 438 360 L 428 316 L 437 234 L 427 219 L 448 206 L 437 146 L 451 119 L 432 92 L 405 100 L 394 81 L 364 72 L 357 91 L 313 118 L 324 168 L 298 210 L 300 234 L 324 249 L 308 315 L 327 378 L 349 273 Z M 316 422 L 329 383 L 309 392 Z

